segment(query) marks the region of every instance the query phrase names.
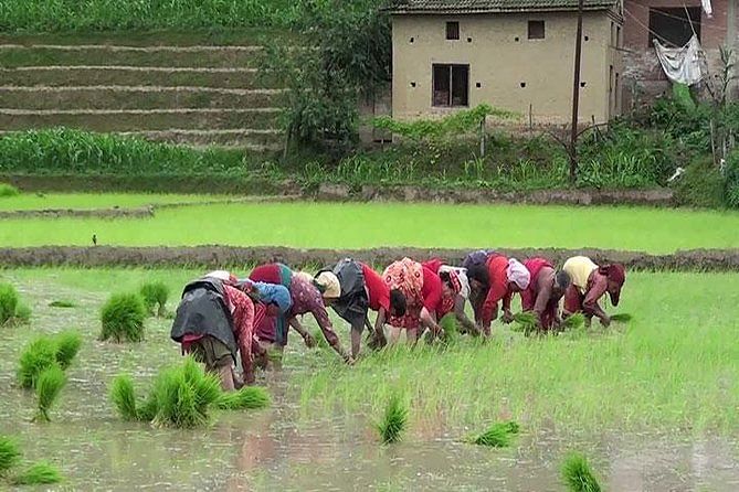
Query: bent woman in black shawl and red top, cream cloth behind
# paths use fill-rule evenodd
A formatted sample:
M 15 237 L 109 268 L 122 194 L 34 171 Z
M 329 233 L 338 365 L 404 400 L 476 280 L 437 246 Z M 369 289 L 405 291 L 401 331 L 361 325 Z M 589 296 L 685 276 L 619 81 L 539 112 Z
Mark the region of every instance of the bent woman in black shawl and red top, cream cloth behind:
M 374 333 L 376 344 L 383 345 L 382 327 L 388 317 L 405 314 L 403 293 L 398 289 L 390 290 L 382 277 L 363 263 L 345 258 L 330 270 L 319 271 L 314 281 L 326 306 L 351 325 L 351 356 L 355 359 L 359 355 L 365 327 Z M 369 310 L 377 312 L 374 330 L 368 318 Z

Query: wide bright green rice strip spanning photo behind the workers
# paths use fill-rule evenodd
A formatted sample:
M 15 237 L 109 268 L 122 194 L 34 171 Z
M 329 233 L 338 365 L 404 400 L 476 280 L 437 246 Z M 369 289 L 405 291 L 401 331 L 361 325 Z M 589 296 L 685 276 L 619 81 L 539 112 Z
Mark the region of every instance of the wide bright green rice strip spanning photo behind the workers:
M 249 227 L 233 227 L 234 223 L 249 224 Z M 454 224 L 454 227 L 430 227 L 431 223 Z M 738 229 L 739 213 L 733 212 L 595 206 L 262 203 L 163 210 L 152 218 L 140 220 L 3 220 L 0 222 L 0 243 L 15 247 L 87 246 L 92 235 L 97 234 L 106 245 L 127 246 L 600 247 L 672 253 L 676 249 L 739 247 Z M 229 234 L 223 234 L 224 231 Z

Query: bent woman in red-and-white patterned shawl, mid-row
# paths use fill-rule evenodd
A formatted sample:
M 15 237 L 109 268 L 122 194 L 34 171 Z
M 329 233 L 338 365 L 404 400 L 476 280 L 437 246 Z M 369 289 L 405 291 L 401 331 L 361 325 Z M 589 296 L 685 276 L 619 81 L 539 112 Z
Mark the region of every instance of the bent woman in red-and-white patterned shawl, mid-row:
M 423 330 L 429 328 L 439 334 L 436 311 L 442 300 L 442 280 L 429 268 L 418 261 L 403 258 L 390 265 L 382 275 L 390 290 L 399 290 L 405 298 L 405 313 L 391 315 L 388 320 L 392 327 L 390 341 L 397 343 L 402 329 L 407 330 L 409 344 L 414 344 Z M 421 328 L 421 333 L 419 333 Z

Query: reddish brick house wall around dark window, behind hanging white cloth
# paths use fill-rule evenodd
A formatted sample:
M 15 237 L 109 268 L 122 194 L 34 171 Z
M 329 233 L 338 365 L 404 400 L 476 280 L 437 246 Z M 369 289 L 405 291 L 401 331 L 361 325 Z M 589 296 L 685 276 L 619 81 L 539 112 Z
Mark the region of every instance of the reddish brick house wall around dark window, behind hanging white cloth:
M 703 12 L 700 20 L 700 42 L 706 51 L 709 71 L 720 72 L 719 47 L 739 46 L 737 24 L 739 12 L 737 0 L 712 0 L 714 14 L 708 18 Z M 648 103 L 656 96 L 671 90 L 659 61 L 650 44 L 650 8 L 700 7 L 700 0 L 625 0 L 624 1 L 624 110 L 633 105 Z M 736 87 L 732 90 L 736 97 Z

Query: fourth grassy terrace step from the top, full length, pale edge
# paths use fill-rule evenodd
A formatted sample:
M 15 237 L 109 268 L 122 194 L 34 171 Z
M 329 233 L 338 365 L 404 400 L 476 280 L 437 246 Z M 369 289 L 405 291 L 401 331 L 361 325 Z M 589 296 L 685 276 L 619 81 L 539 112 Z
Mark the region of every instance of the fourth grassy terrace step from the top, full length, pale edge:
M 271 129 L 276 108 L 258 109 L 125 109 L 0 110 L 1 130 L 70 127 L 91 131 Z

